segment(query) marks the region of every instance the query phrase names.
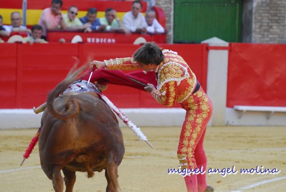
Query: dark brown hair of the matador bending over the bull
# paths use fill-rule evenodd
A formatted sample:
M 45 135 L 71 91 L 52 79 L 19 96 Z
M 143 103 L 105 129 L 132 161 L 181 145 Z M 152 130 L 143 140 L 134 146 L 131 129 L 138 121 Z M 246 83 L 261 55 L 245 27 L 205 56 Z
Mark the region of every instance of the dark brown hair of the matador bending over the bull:
M 134 54 L 133 59 L 142 64 L 160 65 L 164 60 L 162 49 L 154 42 L 146 42 Z

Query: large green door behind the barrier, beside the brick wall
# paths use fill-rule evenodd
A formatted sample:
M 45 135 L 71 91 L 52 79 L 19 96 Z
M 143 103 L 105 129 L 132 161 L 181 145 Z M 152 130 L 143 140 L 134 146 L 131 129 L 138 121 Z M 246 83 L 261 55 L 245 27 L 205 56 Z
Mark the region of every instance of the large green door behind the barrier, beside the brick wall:
M 175 0 L 174 43 L 241 42 L 242 0 Z

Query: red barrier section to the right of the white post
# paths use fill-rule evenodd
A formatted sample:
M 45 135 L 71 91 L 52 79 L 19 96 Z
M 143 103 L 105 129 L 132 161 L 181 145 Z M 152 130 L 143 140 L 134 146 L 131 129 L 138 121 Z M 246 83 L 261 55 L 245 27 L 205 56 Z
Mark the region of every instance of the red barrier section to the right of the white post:
M 232 43 L 227 107 L 286 107 L 286 45 Z

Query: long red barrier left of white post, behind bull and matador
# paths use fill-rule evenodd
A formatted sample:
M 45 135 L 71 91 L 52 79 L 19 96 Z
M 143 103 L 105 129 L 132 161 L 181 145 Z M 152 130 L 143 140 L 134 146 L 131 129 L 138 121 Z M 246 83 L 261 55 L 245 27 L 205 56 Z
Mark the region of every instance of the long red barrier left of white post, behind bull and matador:
M 177 51 L 206 87 L 205 44 L 161 44 Z M 75 60 L 129 57 L 140 45 L 133 44 L 0 44 L 0 109 L 31 109 L 46 100 L 48 91 L 64 79 Z M 128 72 L 128 71 L 127 71 Z M 162 108 L 149 93 L 119 85 L 108 85 L 105 95 L 119 108 Z M 175 107 L 179 107 L 176 105 Z

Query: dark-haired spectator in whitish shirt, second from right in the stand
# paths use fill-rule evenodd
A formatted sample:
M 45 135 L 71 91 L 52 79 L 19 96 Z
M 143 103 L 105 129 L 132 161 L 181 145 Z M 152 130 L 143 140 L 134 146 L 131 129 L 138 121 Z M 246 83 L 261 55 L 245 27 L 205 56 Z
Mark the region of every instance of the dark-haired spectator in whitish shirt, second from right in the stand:
M 123 16 L 124 26 L 133 33 L 146 33 L 146 22 L 141 13 L 142 3 L 140 0 L 135 0 L 132 3 L 131 11 L 128 11 Z

